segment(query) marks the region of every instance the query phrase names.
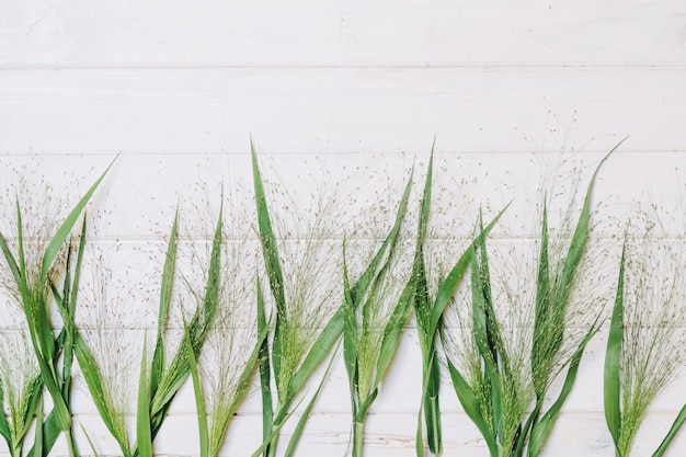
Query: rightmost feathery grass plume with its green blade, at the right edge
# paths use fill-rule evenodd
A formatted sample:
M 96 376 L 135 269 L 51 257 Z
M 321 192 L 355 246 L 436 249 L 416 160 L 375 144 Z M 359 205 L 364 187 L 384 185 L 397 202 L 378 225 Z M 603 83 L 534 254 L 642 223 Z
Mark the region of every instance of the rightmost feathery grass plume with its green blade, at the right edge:
M 686 239 L 666 232 L 663 220 L 656 207 L 642 210 L 629 222 L 625 239 L 604 386 L 605 416 L 618 457 L 631 455 L 650 404 L 686 355 Z M 664 455 L 685 420 L 686 405 L 653 456 Z

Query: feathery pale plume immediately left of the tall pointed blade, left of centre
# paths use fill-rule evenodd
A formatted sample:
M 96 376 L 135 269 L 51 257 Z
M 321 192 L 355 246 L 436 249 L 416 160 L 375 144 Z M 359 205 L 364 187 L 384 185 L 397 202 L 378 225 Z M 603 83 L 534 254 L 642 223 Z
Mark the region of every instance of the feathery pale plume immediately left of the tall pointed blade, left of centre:
M 225 236 L 221 239 L 221 263 L 217 275 L 216 317 L 199 357 L 194 357 L 193 352 L 188 353 L 203 457 L 216 457 L 219 454 L 229 421 L 249 392 L 250 380 L 259 362 L 259 350 L 266 336 L 266 329 L 258 332 L 256 240 L 229 236 L 252 221 L 247 212 L 236 205 L 230 214 L 231 225 L 222 229 Z M 194 249 L 191 253 L 192 264 L 208 263 L 211 244 L 203 245 L 207 249 Z M 199 308 L 206 296 L 208 278 L 215 273 L 198 269 L 182 270 L 190 300 Z

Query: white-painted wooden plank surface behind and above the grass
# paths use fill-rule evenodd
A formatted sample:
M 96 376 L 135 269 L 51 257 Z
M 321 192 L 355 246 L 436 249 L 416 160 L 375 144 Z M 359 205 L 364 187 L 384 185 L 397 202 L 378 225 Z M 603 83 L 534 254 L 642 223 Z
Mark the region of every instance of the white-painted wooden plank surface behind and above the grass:
M 251 135 L 285 176 L 330 156 L 387 164 L 395 182 L 413 162 L 423 169 L 435 137 L 446 182 L 467 181 L 471 214 L 460 217 L 470 224 L 479 205 L 535 188 L 537 157 L 563 148 L 591 165 L 630 135 L 603 169 L 598 198 L 648 192 L 670 206 L 684 182 L 684 81 L 682 1 L 0 0 L 0 176 L 36 156 L 61 182 L 119 155 L 99 199 L 115 222 L 96 241 L 134 250 L 164 230 L 194 181 L 242 182 Z M 546 456 L 614 455 L 605 338 L 591 344 Z M 370 412 L 368 456 L 414 455 L 420 390 L 411 324 Z M 683 391 L 682 379 L 659 397 L 634 455 L 655 448 Z M 197 455 L 191 393 L 174 403 L 157 454 Z M 485 456 L 447 380 L 442 398 L 444 455 Z M 83 387 L 77 410 L 99 452 L 118 454 Z M 344 455 L 348 414 L 339 364 L 297 455 Z M 253 395 L 225 455 L 250 455 L 261 433 Z M 670 455 L 685 452 L 679 438 Z

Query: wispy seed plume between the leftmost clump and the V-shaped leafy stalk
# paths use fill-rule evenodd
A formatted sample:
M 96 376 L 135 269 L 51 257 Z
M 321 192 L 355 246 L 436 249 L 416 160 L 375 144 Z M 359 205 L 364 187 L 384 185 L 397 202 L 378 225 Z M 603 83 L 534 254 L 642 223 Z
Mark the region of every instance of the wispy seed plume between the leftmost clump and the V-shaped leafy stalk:
M 93 215 L 83 260 L 73 272 L 79 282 L 76 355 L 95 405 L 113 437 L 127 455 L 130 449 L 126 418 L 135 410 L 135 388 L 140 367 L 140 336 L 145 325 L 141 284 L 128 276 L 130 252 L 101 230 L 105 213 Z M 124 450 L 126 449 L 126 450 Z

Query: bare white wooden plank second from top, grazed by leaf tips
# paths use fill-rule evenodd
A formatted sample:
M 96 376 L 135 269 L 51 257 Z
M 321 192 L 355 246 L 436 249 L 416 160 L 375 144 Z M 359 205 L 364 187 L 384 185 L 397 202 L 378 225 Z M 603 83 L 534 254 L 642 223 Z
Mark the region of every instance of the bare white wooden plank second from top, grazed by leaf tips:
M 686 70 L 0 72 L 0 151 L 685 151 Z

